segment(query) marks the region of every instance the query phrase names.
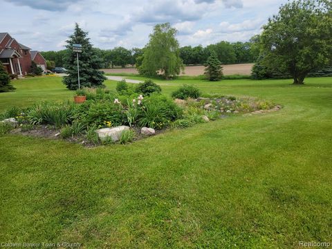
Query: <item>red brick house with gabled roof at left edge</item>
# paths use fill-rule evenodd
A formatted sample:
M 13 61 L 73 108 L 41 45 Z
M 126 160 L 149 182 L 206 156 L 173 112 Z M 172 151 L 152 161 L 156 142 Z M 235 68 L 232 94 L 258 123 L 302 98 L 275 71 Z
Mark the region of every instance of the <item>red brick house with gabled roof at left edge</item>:
M 46 60 L 35 50 L 17 42 L 8 33 L 0 33 L 0 61 L 8 73 L 19 76 L 30 73 L 31 62 L 35 62 L 46 73 Z

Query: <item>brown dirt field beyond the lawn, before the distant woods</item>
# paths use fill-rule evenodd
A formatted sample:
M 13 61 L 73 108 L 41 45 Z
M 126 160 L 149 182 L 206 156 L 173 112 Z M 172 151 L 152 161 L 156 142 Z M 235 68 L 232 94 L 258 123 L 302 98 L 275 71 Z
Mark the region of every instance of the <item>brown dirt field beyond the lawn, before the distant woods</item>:
M 223 74 L 224 75 L 250 75 L 251 68 L 254 64 L 231 64 L 223 65 Z M 105 73 L 138 73 L 136 68 L 107 68 L 102 69 Z M 196 76 L 203 75 L 204 66 L 186 66 L 185 75 Z

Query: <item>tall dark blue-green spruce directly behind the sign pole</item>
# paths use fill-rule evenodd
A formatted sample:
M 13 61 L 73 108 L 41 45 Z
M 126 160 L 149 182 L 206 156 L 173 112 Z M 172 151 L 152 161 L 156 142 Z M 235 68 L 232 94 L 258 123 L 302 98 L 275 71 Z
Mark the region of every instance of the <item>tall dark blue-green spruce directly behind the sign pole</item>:
M 70 90 L 78 89 L 77 55 L 73 52 L 73 44 L 82 44 L 82 53 L 79 53 L 80 85 L 85 87 L 102 86 L 106 80 L 102 71 L 99 71 L 102 68 L 102 59 L 95 54 L 87 35 L 88 33 L 84 32 L 78 24 L 75 24 L 73 35 L 66 41 L 68 53 L 64 59 L 64 66 L 68 70 L 68 76 L 64 77 L 63 82 Z

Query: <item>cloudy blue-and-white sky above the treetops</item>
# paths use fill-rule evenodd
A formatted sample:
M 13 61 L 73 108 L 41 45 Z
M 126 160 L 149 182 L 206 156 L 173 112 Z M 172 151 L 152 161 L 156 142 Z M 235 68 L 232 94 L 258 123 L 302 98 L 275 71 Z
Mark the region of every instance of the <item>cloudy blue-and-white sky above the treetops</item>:
M 37 50 L 61 50 L 75 22 L 99 48 L 142 48 L 170 22 L 181 46 L 247 41 L 286 0 L 0 0 L 0 32 Z

